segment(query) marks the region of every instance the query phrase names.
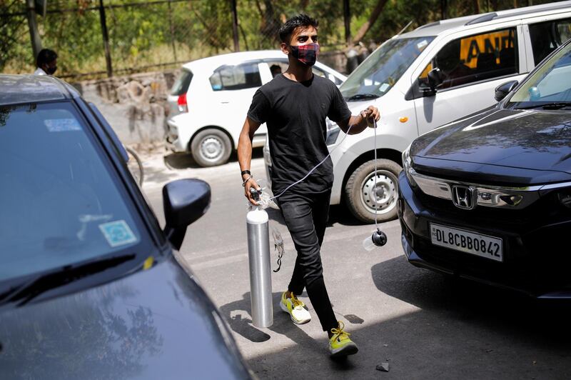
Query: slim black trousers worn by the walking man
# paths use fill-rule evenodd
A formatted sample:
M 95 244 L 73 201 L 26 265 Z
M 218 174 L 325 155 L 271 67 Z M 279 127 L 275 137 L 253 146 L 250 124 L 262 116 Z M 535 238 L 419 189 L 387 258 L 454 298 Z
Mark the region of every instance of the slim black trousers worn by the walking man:
M 288 290 L 299 295 L 305 286 L 323 331 L 330 331 L 338 326 L 325 289 L 320 256 L 329 215 L 330 195 L 331 191 L 304 195 L 287 192 L 277 199 L 298 251 Z

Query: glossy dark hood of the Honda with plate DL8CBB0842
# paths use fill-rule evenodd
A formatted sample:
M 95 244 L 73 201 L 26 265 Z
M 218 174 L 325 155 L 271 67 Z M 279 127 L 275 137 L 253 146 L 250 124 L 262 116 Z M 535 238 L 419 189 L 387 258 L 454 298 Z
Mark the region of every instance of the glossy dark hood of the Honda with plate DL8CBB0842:
M 410 155 L 418 171 L 519 184 L 571 180 L 571 113 L 487 109 L 420 136 Z

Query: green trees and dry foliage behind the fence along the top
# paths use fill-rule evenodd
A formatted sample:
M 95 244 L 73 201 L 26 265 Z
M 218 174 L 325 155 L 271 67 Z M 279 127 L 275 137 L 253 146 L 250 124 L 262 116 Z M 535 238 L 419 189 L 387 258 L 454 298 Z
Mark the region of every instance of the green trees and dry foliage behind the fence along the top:
M 278 29 L 286 19 L 306 13 L 320 22 L 324 50 L 345 47 L 343 0 L 236 0 L 241 50 L 278 49 Z M 355 36 L 383 0 L 350 0 Z M 448 0 L 448 17 L 526 6 L 527 0 Z M 549 1 L 534 0 L 533 4 Z M 145 0 L 103 0 L 113 71 L 188 61 L 233 51 L 231 0 L 188 0 L 146 4 Z M 125 6 L 126 4 L 133 4 Z M 379 44 L 398 33 L 441 18 L 441 0 L 387 0 L 363 38 Z M 106 71 L 99 0 L 50 0 L 49 10 L 73 9 L 38 17 L 44 47 L 59 54 L 58 75 Z M 0 70 L 30 72 L 34 57 L 24 0 L 0 0 Z M 5 16 L 8 14 L 7 16 Z M 156 67 L 155 67 L 156 68 Z M 153 69 L 151 67 L 151 69 Z

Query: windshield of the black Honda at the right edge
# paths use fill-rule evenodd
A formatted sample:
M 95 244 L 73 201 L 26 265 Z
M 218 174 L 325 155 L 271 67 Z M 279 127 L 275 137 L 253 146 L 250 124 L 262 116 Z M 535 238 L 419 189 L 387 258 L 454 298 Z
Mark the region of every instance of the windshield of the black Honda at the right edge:
M 540 66 L 515 91 L 507 106 L 516 109 L 571 106 L 571 44 Z

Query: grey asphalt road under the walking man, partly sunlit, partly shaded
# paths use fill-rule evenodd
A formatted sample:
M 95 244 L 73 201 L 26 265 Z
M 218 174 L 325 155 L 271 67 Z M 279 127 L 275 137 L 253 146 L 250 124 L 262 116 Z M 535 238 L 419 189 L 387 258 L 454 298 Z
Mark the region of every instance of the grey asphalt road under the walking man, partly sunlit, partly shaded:
M 361 247 L 374 226 L 340 206 L 330 212 L 322 259 L 333 309 L 360 351 L 345 361 L 328 357 L 326 335 L 313 320 L 296 326 L 278 307 L 295 251 L 283 220 L 269 210 L 285 241 L 273 274 L 274 324 L 251 324 L 246 246 L 246 199 L 236 159 L 198 168 L 186 155 L 143 156 L 148 200 L 163 222 L 161 187 L 199 178 L 212 189 L 211 209 L 188 228 L 181 252 L 233 330 L 248 365 L 261 379 L 570 379 L 570 303 L 539 302 L 424 269 L 405 259 L 398 221 L 381 227 L 388 244 Z M 261 152 L 252 172 L 265 177 Z M 272 265 L 276 266 L 276 256 Z M 389 364 L 389 371 L 375 369 Z

